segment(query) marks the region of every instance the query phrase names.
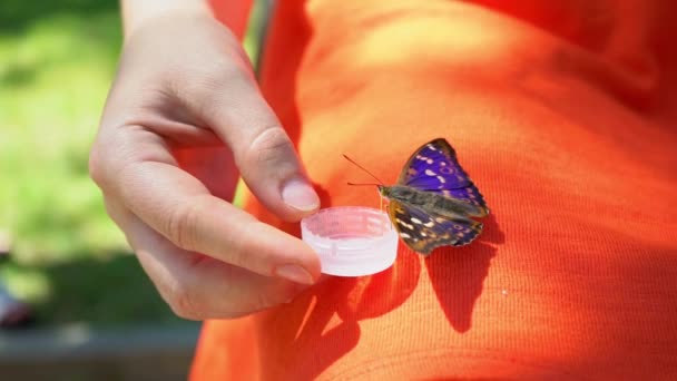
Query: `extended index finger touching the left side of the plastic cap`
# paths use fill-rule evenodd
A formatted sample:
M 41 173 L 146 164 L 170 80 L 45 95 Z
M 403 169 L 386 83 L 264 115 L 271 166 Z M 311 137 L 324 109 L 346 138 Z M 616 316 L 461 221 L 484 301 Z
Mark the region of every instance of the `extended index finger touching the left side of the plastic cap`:
M 313 283 L 320 261 L 301 240 L 263 224 L 244 211 L 212 195 L 161 147 L 161 138 L 143 128 L 127 131 L 135 154 L 127 162 L 106 162 L 105 188 L 126 208 L 176 246 L 204 253 L 255 273 Z M 104 152 L 105 153 L 105 152 Z M 110 168 L 112 166 L 112 168 Z

